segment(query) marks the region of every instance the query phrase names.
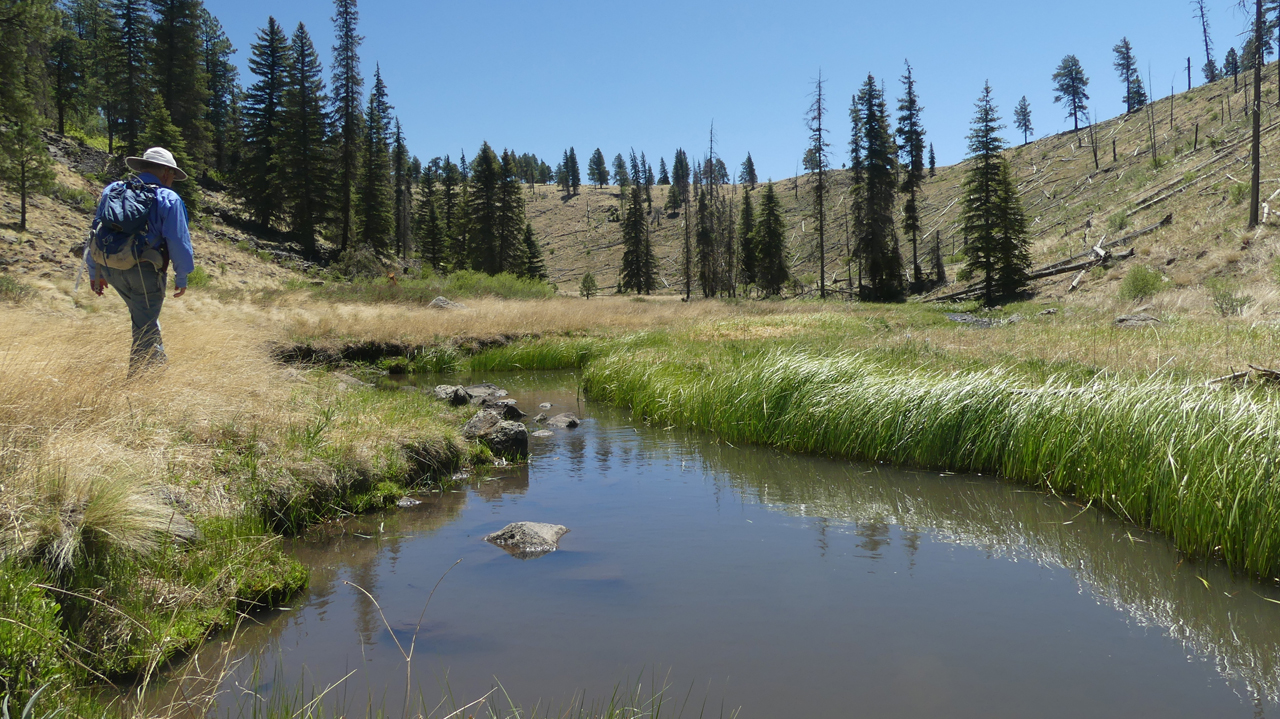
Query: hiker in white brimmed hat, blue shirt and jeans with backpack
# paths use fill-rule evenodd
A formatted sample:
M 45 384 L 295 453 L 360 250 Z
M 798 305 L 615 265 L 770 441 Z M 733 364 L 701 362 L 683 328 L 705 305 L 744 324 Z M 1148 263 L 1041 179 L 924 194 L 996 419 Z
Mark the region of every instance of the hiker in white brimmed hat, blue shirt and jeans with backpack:
M 114 182 L 102 191 L 93 228 L 84 248 L 90 288 L 99 296 L 115 288 L 133 320 L 129 376 L 165 362 L 160 342 L 160 307 L 164 306 L 169 264 L 173 262 L 174 299 L 187 292 L 187 275 L 196 269 L 187 232 L 187 206 L 173 183 L 187 179 L 164 147 L 141 157 L 125 157 L 136 177 Z

